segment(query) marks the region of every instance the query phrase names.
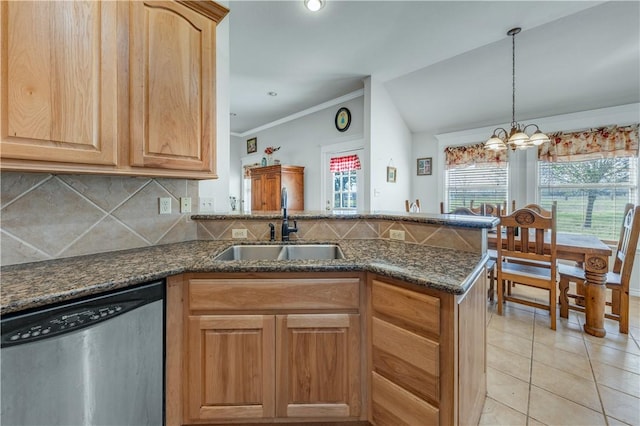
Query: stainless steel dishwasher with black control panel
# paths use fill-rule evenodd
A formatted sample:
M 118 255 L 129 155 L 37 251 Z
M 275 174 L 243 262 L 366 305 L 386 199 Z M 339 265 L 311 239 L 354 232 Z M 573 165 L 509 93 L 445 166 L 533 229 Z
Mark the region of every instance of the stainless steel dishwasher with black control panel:
M 164 423 L 164 282 L 2 318 L 3 425 Z

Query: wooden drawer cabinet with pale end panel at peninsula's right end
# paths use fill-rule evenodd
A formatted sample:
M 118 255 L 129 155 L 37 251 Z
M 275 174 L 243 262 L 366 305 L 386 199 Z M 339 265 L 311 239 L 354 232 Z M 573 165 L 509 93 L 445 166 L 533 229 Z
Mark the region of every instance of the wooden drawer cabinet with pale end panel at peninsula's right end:
M 478 424 L 487 387 L 485 276 L 459 296 L 369 278 L 372 424 Z

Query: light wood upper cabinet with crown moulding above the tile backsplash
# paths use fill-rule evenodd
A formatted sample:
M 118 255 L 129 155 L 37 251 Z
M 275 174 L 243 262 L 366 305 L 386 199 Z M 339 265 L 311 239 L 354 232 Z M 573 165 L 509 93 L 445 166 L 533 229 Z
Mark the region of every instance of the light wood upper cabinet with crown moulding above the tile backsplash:
M 3 170 L 214 178 L 212 1 L 2 1 Z

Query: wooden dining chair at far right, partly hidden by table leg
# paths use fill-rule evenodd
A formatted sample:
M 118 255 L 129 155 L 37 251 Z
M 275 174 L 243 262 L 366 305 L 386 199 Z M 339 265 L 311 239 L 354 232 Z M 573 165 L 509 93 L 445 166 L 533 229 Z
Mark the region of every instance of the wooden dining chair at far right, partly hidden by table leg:
M 629 282 L 640 234 L 640 206 L 627 204 L 623 217 L 613 270 L 607 273 L 606 286 L 611 290 L 611 301 L 606 303 L 611 307 L 611 313 L 605 313 L 605 318 L 618 321 L 620 333 L 628 334 Z M 558 272 L 560 274 L 560 316 L 567 318 L 569 309 L 584 312 L 584 306 L 569 302 L 569 299 L 573 299 L 574 302 L 584 300 L 584 296 L 579 294 L 585 282 L 584 269 L 559 265 Z M 576 283 L 576 293 L 569 292 L 571 282 Z

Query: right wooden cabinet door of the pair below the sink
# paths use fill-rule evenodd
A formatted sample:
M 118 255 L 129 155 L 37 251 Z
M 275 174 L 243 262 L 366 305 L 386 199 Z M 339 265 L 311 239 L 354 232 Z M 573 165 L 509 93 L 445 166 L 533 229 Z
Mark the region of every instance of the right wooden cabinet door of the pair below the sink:
M 276 416 L 359 416 L 360 315 L 278 315 L 276 323 Z

